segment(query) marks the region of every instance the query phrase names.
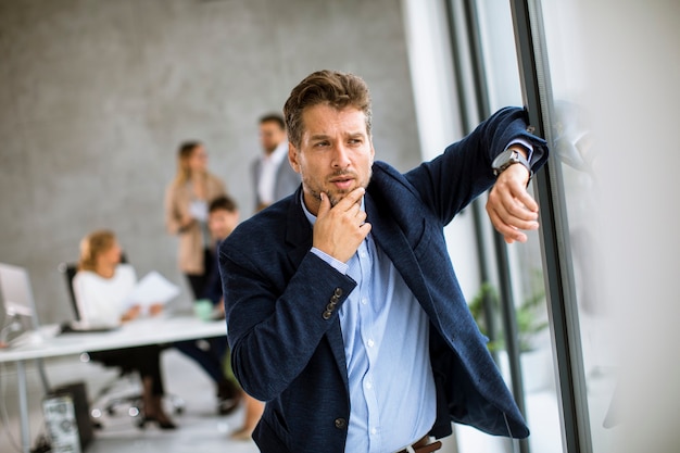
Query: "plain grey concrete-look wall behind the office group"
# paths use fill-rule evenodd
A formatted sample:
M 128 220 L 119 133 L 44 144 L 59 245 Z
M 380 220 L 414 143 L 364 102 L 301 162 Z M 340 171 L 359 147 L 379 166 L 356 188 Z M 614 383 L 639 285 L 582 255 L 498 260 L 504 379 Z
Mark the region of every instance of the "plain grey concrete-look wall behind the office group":
M 71 316 L 56 265 L 101 227 L 189 306 L 163 224 L 178 143 L 202 140 L 250 215 L 256 118 L 312 71 L 363 76 L 378 159 L 417 164 L 400 4 L 0 0 L 0 262 L 28 268 L 41 322 Z

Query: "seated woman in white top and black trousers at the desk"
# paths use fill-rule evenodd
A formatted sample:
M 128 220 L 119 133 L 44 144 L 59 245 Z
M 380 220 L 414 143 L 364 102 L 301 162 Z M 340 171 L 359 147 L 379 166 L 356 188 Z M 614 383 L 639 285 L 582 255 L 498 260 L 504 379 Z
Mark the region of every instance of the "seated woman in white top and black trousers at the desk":
M 136 281 L 135 268 L 129 264 L 121 264 L 121 247 L 112 231 L 95 231 L 83 239 L 73 289 L 84 324 L 117 326 L 139 317 L 140 306 L 127 300 Z M 154 305 L 149 310 L 151 315 L 160 311 L 161 305 Z M 142 381 L 142 426 L 146 421 L 155 421 L 162 429 L 175 429 L 176 425 L 162 405 L 164 389 L 160 354 L 161 348 L 150 344 L 98 351 L 89 355 L 108 366 L 138 372 Z

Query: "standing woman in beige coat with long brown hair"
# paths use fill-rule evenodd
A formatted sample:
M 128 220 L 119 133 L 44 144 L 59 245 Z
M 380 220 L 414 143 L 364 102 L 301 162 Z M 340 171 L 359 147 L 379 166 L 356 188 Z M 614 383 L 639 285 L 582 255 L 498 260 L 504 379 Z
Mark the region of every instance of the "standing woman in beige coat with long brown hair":
M 210 266 L 214 263 L 207 230 L 207 203 L 226 194 L 226 186 L 207 171 L 207 153 L 199 141 L 180 144 L 177 175 L 165 193 L 165 225 L 179 236 L 178 263 L 194 299 L 203 297 Z

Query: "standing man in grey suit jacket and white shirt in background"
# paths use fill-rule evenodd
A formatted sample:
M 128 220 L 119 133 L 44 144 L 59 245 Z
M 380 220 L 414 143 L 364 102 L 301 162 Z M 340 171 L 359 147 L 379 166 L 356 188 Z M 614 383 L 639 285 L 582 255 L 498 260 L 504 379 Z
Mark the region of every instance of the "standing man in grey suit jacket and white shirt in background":
M 255 211 L 291 194 L 300 186 L 300 175 L 288 165 L 288 138 L 284 117 L 278 113 L 260 118 L 262 154 L 253 162 Z

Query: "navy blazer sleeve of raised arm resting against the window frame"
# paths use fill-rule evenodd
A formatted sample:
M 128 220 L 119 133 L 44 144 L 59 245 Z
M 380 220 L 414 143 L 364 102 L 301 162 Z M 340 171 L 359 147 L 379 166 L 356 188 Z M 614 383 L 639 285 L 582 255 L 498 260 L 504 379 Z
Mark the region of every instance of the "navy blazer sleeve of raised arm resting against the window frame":
M 530 163 L 534 173 L 545 163 L 545 140 L 527 131 L 527 118 L 522 109 L 502 109 L 441 155 L 405 175 L 444 225 L 493 185 L 491 163 L 511 141 L 520 138 L 532 144 Z

